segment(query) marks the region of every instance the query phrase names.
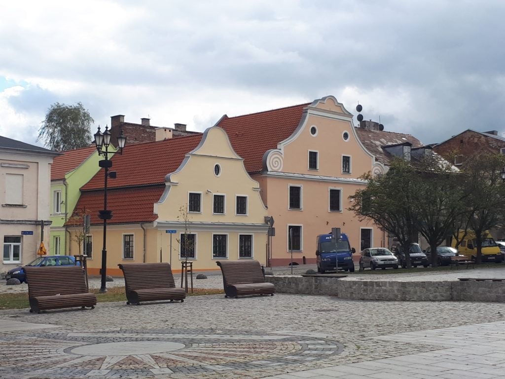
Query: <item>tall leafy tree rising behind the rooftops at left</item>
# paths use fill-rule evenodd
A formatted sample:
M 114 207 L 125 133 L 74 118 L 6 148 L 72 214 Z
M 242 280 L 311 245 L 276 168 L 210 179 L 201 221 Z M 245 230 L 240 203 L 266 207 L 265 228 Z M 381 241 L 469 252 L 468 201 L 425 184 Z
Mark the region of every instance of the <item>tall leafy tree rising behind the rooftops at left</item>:
M 94 120 L 82 103 L 55 103 L 49 107 L 39 129 L 37 140 L 43 139 L 52 150 L 66 151 L 89 146 Z

